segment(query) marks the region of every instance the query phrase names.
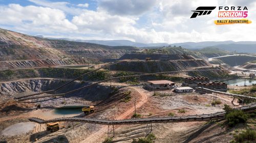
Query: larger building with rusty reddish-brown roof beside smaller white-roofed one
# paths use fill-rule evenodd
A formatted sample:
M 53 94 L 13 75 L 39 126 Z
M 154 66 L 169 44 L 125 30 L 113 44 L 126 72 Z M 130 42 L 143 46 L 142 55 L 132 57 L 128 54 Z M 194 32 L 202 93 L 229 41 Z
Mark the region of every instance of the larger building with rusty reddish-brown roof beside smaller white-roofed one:
M 147 87 L 150 89 L 170 89 L 175 83 L 169 80 L 150 80 L 147 81 Z

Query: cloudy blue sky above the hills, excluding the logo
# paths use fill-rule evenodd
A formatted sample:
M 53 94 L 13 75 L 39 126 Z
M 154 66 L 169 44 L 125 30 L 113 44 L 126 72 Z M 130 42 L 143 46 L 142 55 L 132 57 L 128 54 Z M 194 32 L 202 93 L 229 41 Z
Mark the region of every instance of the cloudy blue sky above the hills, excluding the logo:
M 200 6 L 211 14 L 190 19 Z M 247 7 L 251 24 L 215 25 L 219 6 Z M 232 19 L 232 18 L 231 18 Z M 141 43 L 255 41 L 251 0 L 0 0 L 0 27 L 28 35 Z

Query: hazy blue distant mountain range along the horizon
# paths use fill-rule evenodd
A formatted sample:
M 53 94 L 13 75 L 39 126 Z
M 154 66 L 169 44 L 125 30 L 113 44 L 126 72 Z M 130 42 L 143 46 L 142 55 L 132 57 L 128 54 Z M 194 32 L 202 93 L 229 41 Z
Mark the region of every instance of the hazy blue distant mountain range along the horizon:
M 41 37 L 41 36 L 38 36 Z M 54 39 L 54 38 L 49 38 Z M 67 38 L 60 38 L 62 40 L 89 42 L 107 46 L 134 46 L 139 48 L 157 48 L 163 46 L 181 46 L 186 49 L 201 49 L 205 47 L 219 48 L 227 51 L 256 53 L 256 41 L 205 41 L 205 42 L 184 42 L 184 43 L 139 43 L 130 40 L 72 40 Z

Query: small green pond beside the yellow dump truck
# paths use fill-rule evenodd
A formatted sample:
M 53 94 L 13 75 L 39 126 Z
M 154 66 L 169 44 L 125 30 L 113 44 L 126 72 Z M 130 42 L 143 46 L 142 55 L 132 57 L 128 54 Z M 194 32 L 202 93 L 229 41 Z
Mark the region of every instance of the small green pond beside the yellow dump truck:
M 59 115 L 80 114 L 83 113 L 82 107 L 84 106 L 63 106 L 54 109 L 54 113 Z

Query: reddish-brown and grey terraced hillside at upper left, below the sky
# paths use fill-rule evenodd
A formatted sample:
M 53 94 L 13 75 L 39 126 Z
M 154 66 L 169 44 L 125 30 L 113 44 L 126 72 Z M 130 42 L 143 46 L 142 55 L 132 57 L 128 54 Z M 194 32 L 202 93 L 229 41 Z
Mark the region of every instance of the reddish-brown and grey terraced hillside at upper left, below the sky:
M 132 46 L 37 38 L 0 28 L 0 70 L 95 63 L 134 50 Z

